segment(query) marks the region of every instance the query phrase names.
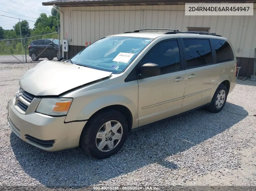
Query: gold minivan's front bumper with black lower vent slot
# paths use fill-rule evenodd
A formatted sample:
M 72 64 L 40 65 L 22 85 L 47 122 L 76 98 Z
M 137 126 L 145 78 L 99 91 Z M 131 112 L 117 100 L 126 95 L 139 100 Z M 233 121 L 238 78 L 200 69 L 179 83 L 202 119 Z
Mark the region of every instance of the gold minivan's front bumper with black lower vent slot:
M 8 123 L 12 131 L 23 141 L 45 151 L 60 151 L 79 145 L 86 121 L 64 123 L 65 116 L 52 117 L 41 113 L 20 113 L 8 103 Z

